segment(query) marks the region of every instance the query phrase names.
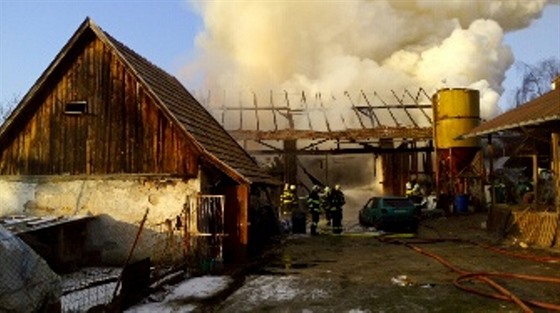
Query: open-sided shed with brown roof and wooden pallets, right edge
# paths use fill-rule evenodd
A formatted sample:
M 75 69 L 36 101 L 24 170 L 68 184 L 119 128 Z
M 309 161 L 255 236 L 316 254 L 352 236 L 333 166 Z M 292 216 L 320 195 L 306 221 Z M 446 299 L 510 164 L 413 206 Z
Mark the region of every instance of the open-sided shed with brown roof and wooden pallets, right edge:
M 560 77 L 552 82 L 552 86 L 551 91 L 464 135 L 486 138 L 490 159 L 497 154 L 494 142 L 507 135 L 507 140 L 515 142 L 515 149 L 508 157 L 529 161 L 523 165 L 532 190 L 522 203 L 509 203 L 507 195 L 497 192 L 501 189 L 494 187 L 502 182 L 497 181 L 498 177 L 490 168 L 489 179 L 494 187 L 491 189 L 493 206 L 489 212 L 489 227 L 544 247 L 560 247 Z M 510 163 L 515 164 L 514 161 Z

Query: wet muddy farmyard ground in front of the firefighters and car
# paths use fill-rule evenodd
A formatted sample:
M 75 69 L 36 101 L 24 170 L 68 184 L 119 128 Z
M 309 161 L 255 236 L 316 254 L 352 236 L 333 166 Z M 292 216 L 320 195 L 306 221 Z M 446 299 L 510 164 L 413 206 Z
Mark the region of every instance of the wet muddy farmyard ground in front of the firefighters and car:
M 247 268 L 246 275 L 227 297 L 208 303 L 201 311 L 520 312 L 520 306 L 512 302 L 458 289 L 453 285 L 460 275 L 458 271 L 560 277 L 559 263 L 514 258 L 469 242 L 423 241 L 463 238 L 523 255 L 560 256 L 558 251 L 524 249 L 493 236 L 483 228 L 484 213 L 424 220 L 415 238 L 397 236 L 409 245 L 380 240 L 386 237 L 362 228 L 354 218 L 345 218 L 346 231 L 342 235 L 330 234 L 322 222 L 322 235 L 288 236 Z M 455 270 L 421 252 L 437 255 Z M 560 305 L 558 284 L 492 279 L 523 299 Z M 477 280 L 464 285 L 495 293 Z

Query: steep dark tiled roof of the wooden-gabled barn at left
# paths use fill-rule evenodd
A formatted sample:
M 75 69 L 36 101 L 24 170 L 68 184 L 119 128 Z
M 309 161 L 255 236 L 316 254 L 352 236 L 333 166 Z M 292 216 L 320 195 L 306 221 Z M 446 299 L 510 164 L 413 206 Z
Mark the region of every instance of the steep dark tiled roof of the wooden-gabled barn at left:
M 207 159 L 226 174 L 247 183 L 276 183 L 256 161 L 235 141 L 179 82 L 177 78 L 149 62 L 132 49 L 119 42 L 98 27 L 89 17 L 80 25 L 68 43 L 25 95 L 6 123 L 0 128 L 0 136 L 9 127 L 22 107 L 45 83 L 54 69 L 61 63 L 68 51 L 86 33 L 95 34 L 104 44 L 111 47 L 132 73 L 144 84 L 156 99 L 158 106 L 176 123 Z

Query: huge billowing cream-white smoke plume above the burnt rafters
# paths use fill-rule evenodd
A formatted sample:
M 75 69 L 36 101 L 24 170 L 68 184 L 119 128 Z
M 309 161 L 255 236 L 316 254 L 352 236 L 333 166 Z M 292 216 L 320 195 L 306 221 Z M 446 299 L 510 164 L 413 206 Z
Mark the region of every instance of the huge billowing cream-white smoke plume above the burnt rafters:
M 206 1 L 190 69 L 209 90 L 388 93 L 475 88 L 499 113 L 513 64 L 505 32 L 528 27 L 546 0 Z M 192 73 L 191 73 L 192 74 Z

